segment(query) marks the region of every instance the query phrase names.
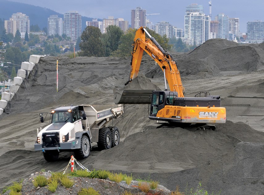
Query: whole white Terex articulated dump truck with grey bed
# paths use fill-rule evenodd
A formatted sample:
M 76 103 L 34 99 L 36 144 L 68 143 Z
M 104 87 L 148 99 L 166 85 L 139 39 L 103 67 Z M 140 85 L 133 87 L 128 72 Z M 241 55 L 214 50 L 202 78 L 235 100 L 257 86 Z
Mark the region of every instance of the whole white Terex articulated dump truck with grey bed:
M 114 147 L 119 144 L 119 130 L 113 126 L 113 119 L 123 113 L 122 104 L 61 106 L 40 113 L 40 121 L 49 118 L 49 125 L 37 129 L 35 151 L 42 151 L 45 160 L 54 161 L 59 152 L 65 151 L 73 151 L 77 159 L 87 158 L 92 142 L 97 142 L 100 149 Z

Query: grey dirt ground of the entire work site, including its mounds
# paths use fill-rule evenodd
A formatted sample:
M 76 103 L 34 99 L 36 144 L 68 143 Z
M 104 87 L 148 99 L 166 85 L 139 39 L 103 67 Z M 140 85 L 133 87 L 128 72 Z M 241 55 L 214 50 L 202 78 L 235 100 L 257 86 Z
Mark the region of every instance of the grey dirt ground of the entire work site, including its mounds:
M 205 42 L 189 54 L 175 53 L 185 96 L 210 91 L 221 96 L 227 123 L 216 131 L 189 132 L 182 128 L 157 128 L 148 119 L 148 105 L 125 105 L 115 120 L 121 143 L 98 151 L 81 163 L 89 169 L 120 170 L 135 177 L 160 181 L 170 190 L 177 185 L 196 187 L 202 181 L 210 193 L 261 194 L 263 173 L 263 56 L 262 44 L 239 46 L 226 40 Z M 229 54 L 229 52 L 233 52 Z M 206 53 L 207 55 L 205 55 Z M 44 127 L 38 114 L 67 104 L 114 104 L 113 87 L 128 80 L 130 58 L 59 58 L 59 92 L 56 59 L 41 58 L 0 116 L 0 189 L 41 169 L 61 171 L 71 153 L 46 162 L 34 151 L 36 128 Z M 237 66 L 238 65 L 238 66 Z M 130 87 L 164 89 L 163 73 L 144 56 L 139 77 Z M 140 81 L 144 80 L 144 83 Z

